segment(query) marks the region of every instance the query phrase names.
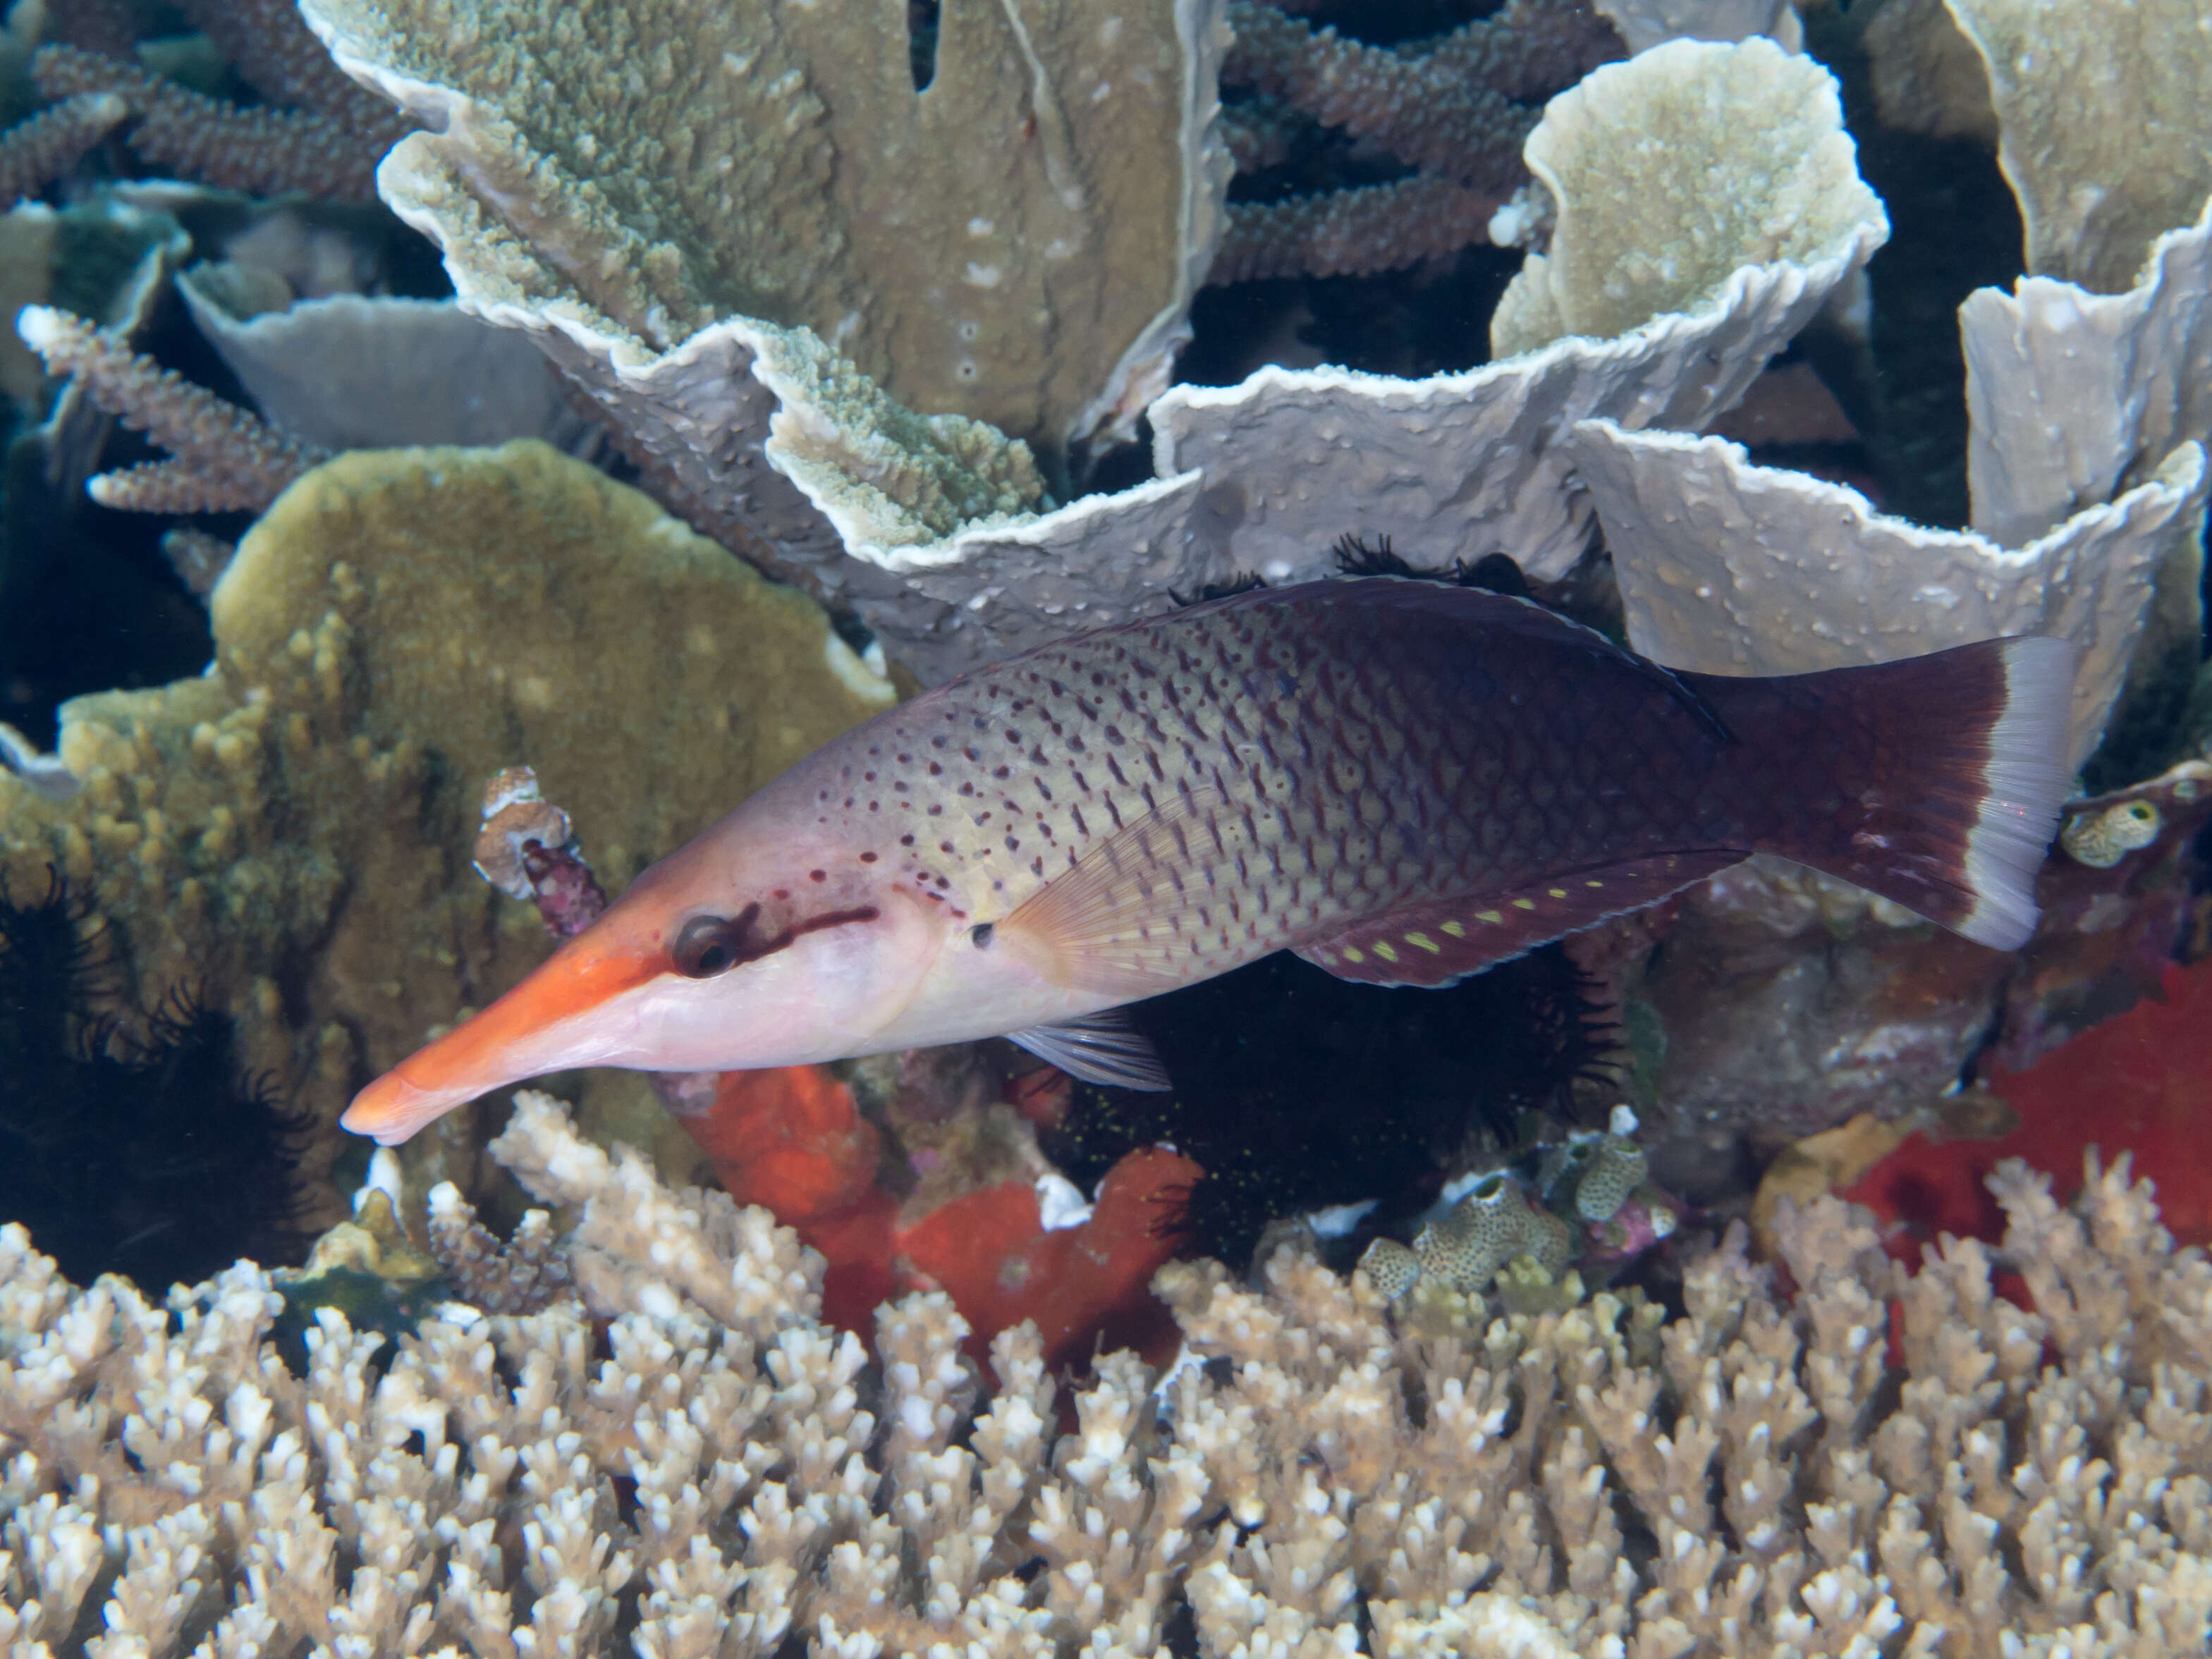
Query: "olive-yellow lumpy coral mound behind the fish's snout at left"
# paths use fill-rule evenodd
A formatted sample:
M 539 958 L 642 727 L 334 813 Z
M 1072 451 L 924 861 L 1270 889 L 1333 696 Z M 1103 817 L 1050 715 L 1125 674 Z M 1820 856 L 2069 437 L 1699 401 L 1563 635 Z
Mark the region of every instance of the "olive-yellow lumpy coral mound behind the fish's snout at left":
M 323 1126 L 310 1221 L 336 1214 L 352 1091 L 549 951 L 469 867 L 484 779 L 533 765 L 619 891 L 894 701 L 814 602 L 540 442 L 341 456 L 210 608 L 204 677 L 62 708 L 73 799 L 0 774 L 0 874 L 38 891 L 55 865 L 148 1006 L 190 984 L 237 1015 Z M 469 1186 L 456 1119 L 418 1159 Z

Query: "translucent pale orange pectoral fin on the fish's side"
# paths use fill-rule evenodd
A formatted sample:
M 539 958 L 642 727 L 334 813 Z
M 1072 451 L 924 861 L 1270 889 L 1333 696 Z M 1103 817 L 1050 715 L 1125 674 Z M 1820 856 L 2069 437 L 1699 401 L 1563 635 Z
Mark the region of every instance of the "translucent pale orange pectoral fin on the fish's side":
M 1139 1002 L 1206 978 L 1199 951 L 1234 898 L 1237 852 L 1217 823 L 1221 792 L 1161 801 L 1104 838 L 1006 916 L 995 945 L 1071 991 Z

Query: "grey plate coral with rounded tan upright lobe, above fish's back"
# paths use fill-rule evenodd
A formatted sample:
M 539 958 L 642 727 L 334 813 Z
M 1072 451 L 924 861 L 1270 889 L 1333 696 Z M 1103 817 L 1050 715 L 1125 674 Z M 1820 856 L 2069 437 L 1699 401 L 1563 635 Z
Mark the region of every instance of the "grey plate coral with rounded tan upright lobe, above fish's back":
M 1668 139 L 1630 142 L 1639 128 Z M 1203 478 L 1192 524 L 1234 568 L 1321 575 L 1327 544 L 1360 531 L 1422 568 L 1504 551 L 1564 577 L 1590 533 L 1555 453 L 1568 425 L 1701 427 L 1887 234 L 1834 82 L 1765 40 L 1608 64 L 1551 102 L 1528 157 L 1559 223 L 1500 301 L 1495 363 L 1261 369 L 1152 405 L 1157 467 Z

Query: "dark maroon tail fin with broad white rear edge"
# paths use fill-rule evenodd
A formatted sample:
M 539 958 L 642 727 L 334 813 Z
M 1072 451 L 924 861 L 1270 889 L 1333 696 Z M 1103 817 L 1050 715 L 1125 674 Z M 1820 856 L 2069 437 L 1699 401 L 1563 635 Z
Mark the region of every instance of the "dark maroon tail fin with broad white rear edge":
M 2075 648 L 1989 639 L 1790 679 L 1683 675 L 1745 743 L 1759 849 L 2000 951 L 2035 931 L 2066 799 Z

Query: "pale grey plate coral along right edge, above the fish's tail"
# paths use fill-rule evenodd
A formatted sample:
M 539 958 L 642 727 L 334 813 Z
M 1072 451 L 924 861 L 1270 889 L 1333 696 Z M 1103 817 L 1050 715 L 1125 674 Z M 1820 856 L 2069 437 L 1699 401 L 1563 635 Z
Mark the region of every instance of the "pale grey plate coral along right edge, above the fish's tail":
M 2081 35 L 2077 58 L 2022 42 L 2095 33 L 2086 7 L 1955 11 L 2004 62 L 2000 126 L 2031 265 L 2057 270 L 2057 248 L 2081 261 L 2081 285 L 2035 276 L 1960 307 L 1973 533 L 1880 518 L 1856 491 L 1750 467 L 1717 442 L 1597 420 L 1571 449 L 1641 650 L 1681 668 L 1801 672 L 2062 633 L 2084 648 L 2081 765 L 2124 688 L 2185 681 L 2203 655 L 2212 173 L 2190 71 L 2203 31 L 2146 7 L 2124 38 Z M 2121 139 L 2137 122 L 2152 133 Z

